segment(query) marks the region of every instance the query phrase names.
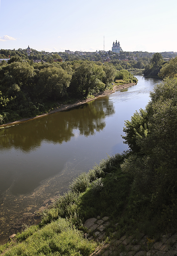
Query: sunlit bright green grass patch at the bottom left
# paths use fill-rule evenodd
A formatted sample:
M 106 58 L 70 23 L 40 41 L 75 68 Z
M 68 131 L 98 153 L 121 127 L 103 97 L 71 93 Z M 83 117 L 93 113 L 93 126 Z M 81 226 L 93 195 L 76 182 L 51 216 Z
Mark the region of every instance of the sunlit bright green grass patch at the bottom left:
M 29 231 L 25 231 L 29 233 Z M 21 241 L 18 235 L 17 242 Z M 24 238 L 24 236 L 23 236 Z M 68 220 L 59 218 L 42 229 L 33 230 L 30 236 L 4 253 L 5 256 L 83 255 L 94 251 L 96 243 L 83 238 L 81 231 Z

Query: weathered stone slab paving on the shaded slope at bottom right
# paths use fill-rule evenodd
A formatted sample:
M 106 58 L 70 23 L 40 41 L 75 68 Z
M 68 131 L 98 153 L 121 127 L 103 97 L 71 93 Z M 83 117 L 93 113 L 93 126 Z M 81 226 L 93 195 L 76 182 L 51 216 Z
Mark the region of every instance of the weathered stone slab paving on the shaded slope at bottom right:
M 109 218 L 100 216 L 86 220 L 84 227 L 89 233 L 85 237 L 100 242 L 90 256 L 177 256 L 177 233 L 163 235 L 160 241 L 154 241 L 145 234 L 139 234 L 136 240 L 132 236 L 122 236 L 120 239 L 106 239 L 105 228 L 110 224 Z M 105 241 L 106 239 L 106 241 Z

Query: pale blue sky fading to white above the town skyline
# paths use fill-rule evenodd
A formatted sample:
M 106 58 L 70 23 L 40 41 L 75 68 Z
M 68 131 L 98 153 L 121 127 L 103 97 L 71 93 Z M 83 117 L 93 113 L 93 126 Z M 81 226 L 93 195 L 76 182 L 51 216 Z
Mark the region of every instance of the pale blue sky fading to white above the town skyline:
M 177 52 L 176 0 L 0 0 L 0 49 Z

